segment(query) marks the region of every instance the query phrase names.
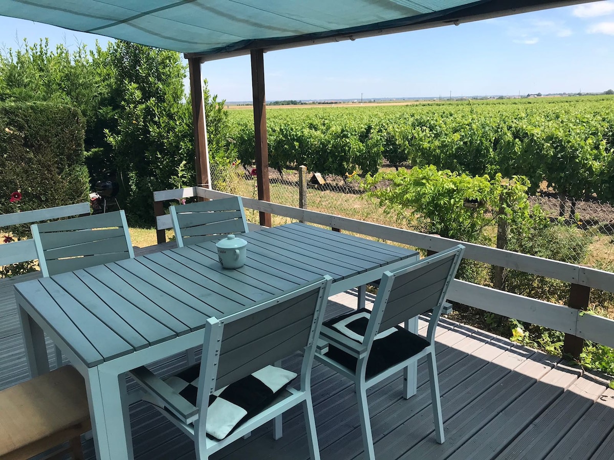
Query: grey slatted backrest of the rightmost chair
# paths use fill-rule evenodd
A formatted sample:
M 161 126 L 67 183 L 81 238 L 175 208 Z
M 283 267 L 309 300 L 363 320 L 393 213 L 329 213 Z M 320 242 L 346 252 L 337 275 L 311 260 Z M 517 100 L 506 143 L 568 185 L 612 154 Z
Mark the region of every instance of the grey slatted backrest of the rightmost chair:
M 372 321 L 377 321 L 378 316 L 380 318 L 379 327 L 373 332 L 386 331 L 429 310 L 433 310 L 438 318 L 463 251 L 464 247 L 457 245 L 393 274 L 384 274 L 371 315 Z M 382 289 L 383 286 L 387 291 Z M 383 313 L 379 312 L 381 309 Z

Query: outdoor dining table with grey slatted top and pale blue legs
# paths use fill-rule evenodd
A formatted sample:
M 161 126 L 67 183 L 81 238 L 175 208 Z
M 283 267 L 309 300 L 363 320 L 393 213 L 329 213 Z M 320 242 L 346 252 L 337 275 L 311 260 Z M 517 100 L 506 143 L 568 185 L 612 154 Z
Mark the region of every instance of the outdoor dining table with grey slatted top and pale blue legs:
M 126 372 L 202 345 L 211 316 L 325 274 L 341 293 L 419 258 L 303 223 L 241 237 L 247 261 L 236 270 L 220 266 L 211 241 L 15 285 L 31 376 L 49 372 L 46 333 L 85 379 L 99 459 L 133 458 Z

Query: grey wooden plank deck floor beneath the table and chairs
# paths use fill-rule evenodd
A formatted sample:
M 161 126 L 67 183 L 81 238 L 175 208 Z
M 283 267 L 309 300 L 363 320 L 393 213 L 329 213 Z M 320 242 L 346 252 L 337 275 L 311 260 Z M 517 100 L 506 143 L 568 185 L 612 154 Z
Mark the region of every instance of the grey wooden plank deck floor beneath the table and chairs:
M 10 293 L 0 291 L 0 305 L 3 295 Z M 356 301 L 355 292 L 333 297 L 327 316 L 354 307 Z M 402 399 L 401 375 L 368 393 L 378 459 L 614 458 L 614 390 L 600 375 L 445 318 L 437 332 L 437 363 L 446 442 L 435 442 L 427 366 L 421 362 L 418 393 L 410 399 Z M 152 370 L 168 374 L 184 365 L 184 356 L 174 356 Z M 298 359 L 289 358 L 285 365 L 297 367 Z M 0 307 L 0 389 L 27 378 L 17 312 Z M 322 459 L 362 458 L 349 381 L 322 365 L 314 367 L 312 381 Z M 131 423 L 135 458 L 195 458 L 192 442 L 149 405 L 131 406 Z M 84 449 L 86 458 L 95 458 L 91 439 Z M 273 440 L 271 426 L 261 427 L 212 458 L 308 459 L 300 408 L 284 415 L 281 439 Z

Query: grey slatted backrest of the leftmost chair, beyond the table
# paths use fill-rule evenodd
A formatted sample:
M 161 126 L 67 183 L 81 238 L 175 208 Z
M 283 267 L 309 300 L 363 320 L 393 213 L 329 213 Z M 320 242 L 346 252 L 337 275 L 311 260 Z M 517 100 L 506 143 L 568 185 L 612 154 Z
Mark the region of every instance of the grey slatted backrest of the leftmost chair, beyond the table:
M 122 211 L 32 226 L 44 276 L 133 258 Z

